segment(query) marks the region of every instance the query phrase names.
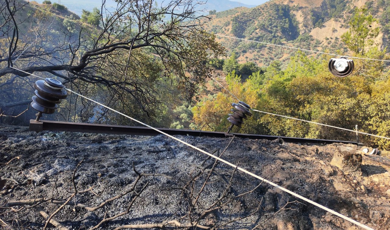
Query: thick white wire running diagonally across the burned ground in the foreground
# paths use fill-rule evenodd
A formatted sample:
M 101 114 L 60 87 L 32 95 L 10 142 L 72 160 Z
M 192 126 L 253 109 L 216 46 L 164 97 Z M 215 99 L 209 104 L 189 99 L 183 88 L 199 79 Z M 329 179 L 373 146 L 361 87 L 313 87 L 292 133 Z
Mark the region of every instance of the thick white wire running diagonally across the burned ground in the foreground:
M 16 69 L 16 68 L 14 68 L 14 69 L 15 69 L 15 70 L 18 70 L 18 69 Z M 22 71 L 22 72 L 24 72 L 24 73 L 27 73 L 27 72 L 25 72 L 25 71 L 23 71 L 23 70 L 19 70 L 19 71 Z M 39 76 L 34 75 L 34 74 L 32 74 L 32 73 L 27 73 L 27 74 L 32 75 L 32 76 L 35 76 L 35 77 L 39 77 Z M 39 78 L 43 78 L 43 77 L 39 77 Z M 172 139 L 174 139 L 174 140 L 176 140 L 176 141 L 179 141 L 180 143 L 183 143 L 183 144 L 185 144 L 185 145 L 187 145 L 187 146 L 190 146 L 191 148 L 193 148 L 193 149 L 195 149 L 195 150 L 198 150 L 198 151 L 201 152 L 201 153 L 204 153 L 204 154 L 206 154 L 206 155 L 208 155 L 208 156 L 210 156 L 210 157 L 213 157 L 214 159 L 219 160 L 219 161 L 221 161 L 221 162 L 223 162 L 223 163 L 225 163 L 225 164 L 227 164 L 227 165 L 229 165 L 229 166 L 231 166 L 231 167 L 233 167 L 233 168 L 236 168 L 236 169 L 238 169 L 239 171 L 242 171 L 243 173 L 246 173 L 246 174 L 248 174 L 248 175 L 250 175 L 250 176 L 252 176 L 252 177 L 255 177 L 255 178 L 259 179 L 259 180 L 262 180 L 262 181 L 264 181 L 264 182 L 266 182 L 266 183 L 268 183 L 268 184 L 270 184 L 270 185 L 272 185 L 272 186 L 274 186 L 274 187 L 277 187 L 278 189 L 280 189 L 280 190 L 282 190 L 282 191 L 285 191 L 286 193 L 289 193 L 289 194 L 291 194 L 291 195 L 293 195 L 293 196 L 295 196 L 295 197 L 297 197 L 297 198 L 300 198 L 301 200 L 304 200 L 304 201 L 306 201 L 306 202 L 308 202 L 308 203 L 311 203 L 312 205 L 315 205 L 315 206 L 317 206 L 317 207 L 319 207 L 319 208 L 321 208 L 321 209 L 324 209 L 324 210 L 326 210 L 326 211 L 332 213 L 333 215 L 339 216 L 339 217 L 342 218 L 342 219 L 345 219 L 345 220 L 347 220 L 347 221 L 349 221 L 349 222 L 351 222 L 351 223 L 354 223 L 354 224 L 357 225 L 357 226 L 360 226 L 360 227 L 362 227 L 362 228 L 364 228 L 364 229 L 367 229 L 367 230 L 374 230 L 374 229 L 370 228 L 369 226 L 363 225 L 362 223 L 359 223 L 358 221 L 355 221 L 354 219 L 351 219 L 351 218 L 349 218 L 349 217 L 347 217 L 347 216 L 344 216 L 343 214 L 340 214 L 339 212 L 333 211 L 332 209 L 329 209 L 329 208 L 327 208 L 327 207 L 325 207 L 325 206 L 323 206 L 323 205 L 320 205 L 319 203 L 316 203 L 316 202 L 314 202 L 314 201 L 312 201 L 312 200 L 309 200 L 309 199 L 307 199 L 307 198 L 305 198 L 305 197 L 303 197 L 303 196 L 301 196 L 301 195 L 299 195 L 299 194 L 297 194 L 297 193 L 294 193 L 293 191 L 290 191 L 290 190 L 288 190 L 288 189 L 285 189 L 284 187 L 281 187 L 281 186 L 279 186 L 279 185 L 277 185 L 277 184 L 275 184 L 275 183 L 273 183 L 273 182 L 271 182 L 271 181 L 269 181 L 269 180 L 266 180 L 266 179 L 264 179 L 264 178 L 262 178 L 262 177 L 260 177 L 260 176 L 258 176 L 258 175 L 256 175 L 256 174 L 254 174 L 254 173 L 251 173 L 250 171 L 248 171 L 248 170 L 246 170 L 246 169 L 243 169 L 243 168 L 241 168 L 241 167 L 238 167 L 237 165 L 232 164 L 232 163 L 230 163 L 230 162 L 227 161 L 227 160 L 223 160 L 222 158 L 217 157 L 217 156 L 215 156 L 215 155 L 213 155 L 213 154 L 211 154 L 211 153 L 208 153 L 208 152 L 206 152 L 206 151 L 204 151 L 204 150 L 202 150 L 202 149 L 200 149 L 200 148 L 198 148 L 198 147 L 196 147 L 196 146 L 193 146 L 192 144 L 189 144 L 189 143 L 187 143 L 187 142 L 185 142 L 185 141 L 182 141 L 181 139 L 179 139 L 179 138 L 177 138 L 177 137 L 174 137 L 174 136 L 172 136 L 172 135 L 169 135 L 169 134 L 167 134 L 167 133 L 165 133 L 165 132 L 163 132 L 163 131 L 161 131 L 161 130 L 158 130 L 157 128 L 151 127 L 150 125 L 147 125 L 147 124 L 143 123 L 142 121 L 138 121 L 138 120 L 135 119 L 135 118 L 132 118 L 132 117 L 130 117 L 130 116 L 126 115 L 126 114 L 123 114 L 123 113 L 121 113 L 121 112 L 119 112 L 119 111 L 116 111 L 115 109 L 112 109 L 112 108 L 110 108 L 110 107 L 108 107 L 108 106 L 106 106 L 106 105 L 103 105 L 102 103 L 99 103 L 99 102 L 97 102 L 97 101 L 95 101 L 95 100 L 92 100 L 92 99 L 90 99 L 90 98 L 87 98 L 86 96 L 83 96 L 82 94 L 76 93 L 76 92 L 74 92 L 74 91 L 72 91 L 72 90 L 70 90 L 70 89 L 67 89 L 67 88 L 65 88 L 65 89 L 66 89 L 67 91 L 71 92 L 71 93 L 74 93 L 74 94 L 77 94 L 78 96 L 81 96 L 82 98 L 85 98 L 85 99 L 87 99 L 87 100 L 89 100 L 89 101 L 91 101 L 91 102 L 94 102 L 94 103 L 96 103 L 96 104 L 98 104 L 98 105 L 101 105 L 101 106 L 105 107 L 106 109 L 109 109 L 109 110 L 111 110 L 111 111 L 113 111 L 113 112 L 116 112 L 116 113 L 118 113 L 118 114 L 121 114 L 122 116 L 124 116 L 124 117 L 126 117 L 126 118 L 129 118 L 129 119 L 131 119 L 131 120 L 133 120 L 133 121 L 135 121 L 135 122 L 138 122 L 138 123 L 140 123 L 141 125 L 144 125 L 144 126 L 146 126 L 146 127 L 149 127 L 149 128 L 151 128 L 152 130 L 155 130 L 156 132 L 159 132 L 159 133 L 161 133 L 161 134 L 163 134 L 163 135 L 165 135 L 165 136 L 167 136 L 167 137 L 170 137 L 170 138 L 172 138 Z

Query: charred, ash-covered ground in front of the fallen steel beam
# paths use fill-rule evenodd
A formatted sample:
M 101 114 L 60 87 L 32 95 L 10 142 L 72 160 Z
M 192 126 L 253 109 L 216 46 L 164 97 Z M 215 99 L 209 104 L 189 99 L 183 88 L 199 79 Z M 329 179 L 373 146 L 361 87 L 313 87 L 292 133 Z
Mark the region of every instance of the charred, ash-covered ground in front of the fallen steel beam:
M 360 153 L 354 145 L 177 137 L 215 155 L 227 147 L 223 159 L 374 229 L 390 229 L 388 157 L 362 155 L 359 175 L 330 164 L 337 148 Z M 230 166 L 161 135 L 35 133 L 0 125 L 0 162 L 4 228 L 43 229 L 42 213 L 55 213 L 51 220 L 76 230 L 157 228 L 164 221 L 171 221 L 165 228 L 189 228 L 199 217 L 191 229 L 358 229 L 242 172 L 232 176 Z M 29 199 L 35 200 L 12 203 Z

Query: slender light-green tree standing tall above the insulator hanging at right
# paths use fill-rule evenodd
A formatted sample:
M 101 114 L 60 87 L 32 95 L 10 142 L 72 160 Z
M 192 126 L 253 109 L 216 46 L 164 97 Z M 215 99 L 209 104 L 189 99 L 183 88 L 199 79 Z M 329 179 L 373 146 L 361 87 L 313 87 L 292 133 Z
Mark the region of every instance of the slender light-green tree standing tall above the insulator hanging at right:
M 367 49 L 374 45 L 374 38 L 379 34 L 379 27 L 373 28 L 377 22 L 365 8 L 355 8 L 351 21 L 348 23 L 349 31 L 341 36 L 341 40 L 349 50 L 356 54 L 365 55 Z

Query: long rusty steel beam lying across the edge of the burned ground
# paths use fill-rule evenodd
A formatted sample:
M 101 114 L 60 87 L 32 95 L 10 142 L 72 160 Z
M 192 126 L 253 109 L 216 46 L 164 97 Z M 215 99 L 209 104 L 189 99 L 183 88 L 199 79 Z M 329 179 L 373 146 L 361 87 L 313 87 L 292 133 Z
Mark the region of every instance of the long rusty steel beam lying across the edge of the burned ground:
M 336 140 L 323 140 L 323 139 L 307 139 L 298 137 L 279 137 L 279 136 L 267 136 L 267 135 L 254 135 L 254 134 L 237 134 L 226 132 L 211 132 L 200 130 L 186 130 L 186 129 L 173 129 L 173 128 L 157 128 L 170 135 L 190 135 L 190 136 L 206 136 L 206 137 L 232 137 L 233 135 L 240 138 L 248 139 L 267 139 L 275 140 L 282 138 L 286 142 L 291 143 L 316 143 L 316 144 L 331 144 L 331 143 L 344 143 L 344 144 L 358 144 L 352 141 L 336 141 Z M 157 136 L 159 132 L 148 127 L 137 126 L 123 126 L 123 125 L 101 125 L 90 123 L 77 123 L 77 122 L 64 122 L 64 121 L 35 121 L 30 120 L 30 131 L 42 132 L 43 130 L 59 131 L 59 132 L 88 132 L 88 133 L 103 133 L 103 134 L 126 134 L 126 135 L 141 135 L 141 136 Z

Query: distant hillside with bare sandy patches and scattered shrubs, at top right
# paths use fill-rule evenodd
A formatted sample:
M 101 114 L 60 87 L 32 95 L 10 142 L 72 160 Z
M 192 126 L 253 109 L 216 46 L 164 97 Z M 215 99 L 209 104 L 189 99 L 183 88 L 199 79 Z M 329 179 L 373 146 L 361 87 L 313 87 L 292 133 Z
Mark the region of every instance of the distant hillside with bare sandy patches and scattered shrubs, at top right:
M 340 36 L 348 30 L 348 21 L 355 7 L 365 6 L 378 19 L 373 27 L 381 27 L 377 45 L 388 45 L 389 0 L 271 0 L 254 8 L 239 7 L 217 12 L 207 25 L 216 34 L 291 45 L 312 50 L 347 50 Z M 284 60 L 292 50 L 265 47 L 260 43 L 220 40 L 236 51 L 240 61 L 268 64 L 274 59 Z

